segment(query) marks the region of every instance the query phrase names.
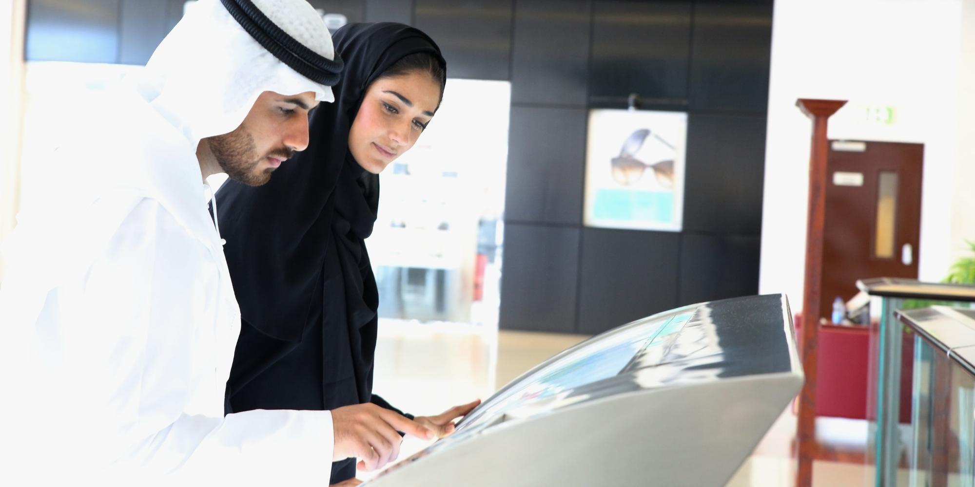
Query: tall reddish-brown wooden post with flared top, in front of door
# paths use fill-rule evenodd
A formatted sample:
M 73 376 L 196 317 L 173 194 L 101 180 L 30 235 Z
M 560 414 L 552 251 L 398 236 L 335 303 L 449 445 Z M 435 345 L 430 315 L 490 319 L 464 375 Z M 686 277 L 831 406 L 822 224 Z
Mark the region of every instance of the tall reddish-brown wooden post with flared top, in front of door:
M 805 235 L 805 286 L 802 292 L 802 369 L 805 384 L 799 401 L 799 472 L 796 485 L 812 486 L 816 454 L 816 357 L 819 342 L 819 299 L 823 283 L 823 232 L 826 216 L 826 156 L 829 141 L 826 121 L 845 100 L 800 98 L 796 106 L 812 119 L 812 154 L 809 159 L 809 213 Z

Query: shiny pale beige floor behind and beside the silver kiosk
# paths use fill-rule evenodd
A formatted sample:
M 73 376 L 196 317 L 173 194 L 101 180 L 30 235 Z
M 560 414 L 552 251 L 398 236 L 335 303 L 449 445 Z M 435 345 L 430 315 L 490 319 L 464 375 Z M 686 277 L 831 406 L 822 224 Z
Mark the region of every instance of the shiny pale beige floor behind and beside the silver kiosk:
M 487 398 L 532 366 L 586 338 L 498 332 L 457 323 L 381 320 L 373 391 L 410 413 L 436 414 L 476 397 Z M 796 462 L 791 459 L 795 428 L 796 417 L 787 409 L 727 485 L 795 485 Z M 839 428 L 849 431 L 846 426 Z M 423 441 L 408 437 L 401 448 L 401 458 L 424 446 Z M 816 486 L 867 485 L 869 473 L 862 465 L 849 463 L 816 462 L 813 466 Z M 360 478 L 370 476 L 360 472 Z

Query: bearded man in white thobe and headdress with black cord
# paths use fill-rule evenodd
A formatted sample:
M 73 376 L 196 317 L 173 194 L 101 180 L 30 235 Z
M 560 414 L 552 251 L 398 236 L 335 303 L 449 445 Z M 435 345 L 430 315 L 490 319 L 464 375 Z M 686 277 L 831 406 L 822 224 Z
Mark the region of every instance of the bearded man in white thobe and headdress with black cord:
M 245 26 L 250 2 L 197 2 L 136 79 L 79 114 L 55 156 L 59 203 L 21 213 L 0 285 L 0 478 L 326 485 L 333 460 L 393 460 L 397 430 L 429 437 L 370 405 L 223 415 L 240 313 L 204 181 L 266 182 L 307 145 L 340 69 L 304 0 L 254 4 L 300 46 Z

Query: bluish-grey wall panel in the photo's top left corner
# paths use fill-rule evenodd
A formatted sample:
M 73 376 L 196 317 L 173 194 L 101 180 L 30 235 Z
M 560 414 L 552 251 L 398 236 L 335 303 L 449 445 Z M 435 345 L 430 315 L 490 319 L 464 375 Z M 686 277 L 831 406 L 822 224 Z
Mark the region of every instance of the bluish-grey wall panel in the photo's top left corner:
M 120 0 L 27 3 L 27 60 L 118 62 Z

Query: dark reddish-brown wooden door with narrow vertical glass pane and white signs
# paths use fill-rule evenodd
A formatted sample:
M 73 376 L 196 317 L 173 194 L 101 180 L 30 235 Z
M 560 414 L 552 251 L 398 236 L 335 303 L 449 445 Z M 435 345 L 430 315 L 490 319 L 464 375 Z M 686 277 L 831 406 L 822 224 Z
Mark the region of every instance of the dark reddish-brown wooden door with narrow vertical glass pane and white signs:
M 917 279 L 923 160 L 923 144 L 831 141 L 821 317 L 857 280 Z

